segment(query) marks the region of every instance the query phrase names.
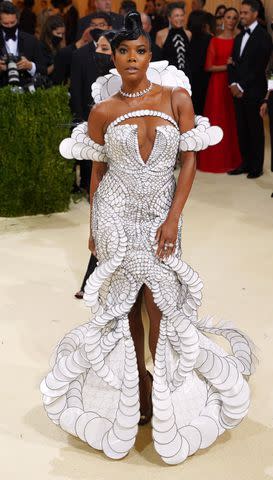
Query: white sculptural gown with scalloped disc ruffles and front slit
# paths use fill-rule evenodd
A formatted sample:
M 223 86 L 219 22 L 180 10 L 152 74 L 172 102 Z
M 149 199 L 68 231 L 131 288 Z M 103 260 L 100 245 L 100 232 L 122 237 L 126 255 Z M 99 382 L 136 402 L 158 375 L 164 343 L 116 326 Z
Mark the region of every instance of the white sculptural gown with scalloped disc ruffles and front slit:
M 137 125 L 128 119 L 160 117 L 144 163 Z M 56 348 L 52 371 L 41 384 L 49 418 L 114 459 L 127 455 L 138 430 L 138 369 L 128 313 L 146 284 L 162 312 L 153 372 L 153 440 L 168 464 L 211 445 L 247 414 L 244 376 L 253 369 L 248 339 L 232 328 L 198 321 L 202 282 L 181 259 L 181 222 L 175 254 L 160 261 L 155 233 L 175 191 L 174 165 L 181 134 L 159 111 L 117 118 L 105 145 L 89 140 L 93 160 L 108 170 L 94 196 L 92 232 L 98 266 L 85 289 L 90 322 L 69 332 Z M 221 335 L 231 352 L 207 334 Z

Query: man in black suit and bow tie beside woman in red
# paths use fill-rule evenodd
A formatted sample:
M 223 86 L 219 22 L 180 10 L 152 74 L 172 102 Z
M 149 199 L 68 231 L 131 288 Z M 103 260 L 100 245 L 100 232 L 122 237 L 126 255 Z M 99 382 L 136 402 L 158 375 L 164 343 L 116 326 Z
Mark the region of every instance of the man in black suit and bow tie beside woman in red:
M 229 85 L 234 98 L 242 164 L 230 175 L 247 173 L 247 178 L 263 174 L 264 127 L 259 115 L 267 91 L 266 66 L 272 40 L 258 24 L 259 4 L 243 0 L 240 10 L 243 31 L 235 38 L 232 62 L 228 65 Z

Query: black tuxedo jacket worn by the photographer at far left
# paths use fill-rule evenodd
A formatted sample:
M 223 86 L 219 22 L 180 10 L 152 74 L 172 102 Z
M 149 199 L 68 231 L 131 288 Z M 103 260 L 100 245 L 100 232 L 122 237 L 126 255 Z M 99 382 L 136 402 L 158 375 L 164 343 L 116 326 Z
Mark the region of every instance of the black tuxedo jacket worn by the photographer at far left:
M 7 54 L 4 36 L 0 29 L 0 56 Z M 30 62 L 36 64 L 36 73 L 46 75 L 46 60 L 43 55 L 41 43 L 33 35 L 18 30 L 18 54 L 26 57 Z M 31 75 L 26 71 L 20 71 L 22 84 L 27 83 Z M 0 73 L 0 87 L 8 84 L 7 72 Z

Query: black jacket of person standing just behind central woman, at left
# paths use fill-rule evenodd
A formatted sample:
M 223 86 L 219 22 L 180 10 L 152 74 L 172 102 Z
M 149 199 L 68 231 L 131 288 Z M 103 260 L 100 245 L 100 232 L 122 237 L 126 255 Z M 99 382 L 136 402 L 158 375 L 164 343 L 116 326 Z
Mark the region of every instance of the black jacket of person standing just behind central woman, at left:
M 76 50 L 71 67 L 71 110 L 75 121 L 87 120 L 93 104 L 91 85 L 100 76 L 92 43 Z

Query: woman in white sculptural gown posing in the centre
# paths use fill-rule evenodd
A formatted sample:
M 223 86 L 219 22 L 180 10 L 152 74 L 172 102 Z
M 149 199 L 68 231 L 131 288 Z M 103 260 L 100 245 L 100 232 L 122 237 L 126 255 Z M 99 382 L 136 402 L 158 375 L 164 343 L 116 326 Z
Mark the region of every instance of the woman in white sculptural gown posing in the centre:
M 138 423 L 153 413 L 155 448 L 176 464 L 245 416 L 249 389 L 240 372 L 250 373 L 251 352 L 236 330 L 197 322 L 202 283 L 181 260 L 181 212 L 195 175 L 189 148 L 208 134 L 192 130 L 184 89 L 148 81 L 150 41 L 137 12 L 111 46 L 121 88 L 91 110 L 88 139 L 73 132 L 94 162 L 89 246 L 99 264 L 85 289 L 94 318 L 59 343 L 41 391 L 55 423 L 114 459 L 129 452 Z M 153 382 L 144 361 L 143 297 Z M 231 339 L 234 354 L 202 331 Z

